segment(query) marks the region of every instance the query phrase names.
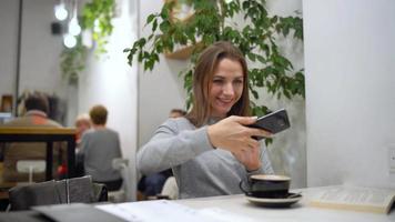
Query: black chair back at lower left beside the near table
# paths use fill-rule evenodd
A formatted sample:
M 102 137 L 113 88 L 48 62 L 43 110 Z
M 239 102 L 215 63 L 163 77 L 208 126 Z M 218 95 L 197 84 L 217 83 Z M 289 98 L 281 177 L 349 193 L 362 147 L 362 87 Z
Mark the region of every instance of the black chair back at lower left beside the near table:
M 29 210 L 34 205 L 93 203 L 108 201 L 105 185 L 93 183 L 90 175 L 17 185 L 9 190 L 10 210 Z

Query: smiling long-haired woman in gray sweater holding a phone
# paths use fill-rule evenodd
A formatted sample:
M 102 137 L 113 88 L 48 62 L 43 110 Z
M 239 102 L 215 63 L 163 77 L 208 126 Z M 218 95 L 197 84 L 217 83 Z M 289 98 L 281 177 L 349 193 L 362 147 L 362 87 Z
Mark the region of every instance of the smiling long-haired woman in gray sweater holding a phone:
M 193 79 L 193 107 L 184 118 L 169 119 L 138 153 L 143 174 L 172 168 L 180 198 L 241 193 L 249 174 L 273 173 L 265 149 L 247 128 L 247 65 L 239 49 L 216 42 L 202 52 Z

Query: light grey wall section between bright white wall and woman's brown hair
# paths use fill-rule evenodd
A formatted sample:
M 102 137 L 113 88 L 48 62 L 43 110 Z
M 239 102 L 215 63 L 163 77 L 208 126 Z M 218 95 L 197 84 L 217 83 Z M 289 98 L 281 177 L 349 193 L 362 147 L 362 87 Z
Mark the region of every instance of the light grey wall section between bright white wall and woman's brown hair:
M 148 37 L 146 17 L 159 12 L 164 1 L 140 1 L 140 37 Z M 136 63 L 135 63 L 136 64 Z M 133 64 L 133 65 L 135 65 Z M 160 56 L 160 63 L 150 71 L 139 65 L 139 147 L 146 143 L 155 129 L 163 123 L 172 108 L 184 108 L 186 93 L 179 72 L 186 61 L 170 60 Z

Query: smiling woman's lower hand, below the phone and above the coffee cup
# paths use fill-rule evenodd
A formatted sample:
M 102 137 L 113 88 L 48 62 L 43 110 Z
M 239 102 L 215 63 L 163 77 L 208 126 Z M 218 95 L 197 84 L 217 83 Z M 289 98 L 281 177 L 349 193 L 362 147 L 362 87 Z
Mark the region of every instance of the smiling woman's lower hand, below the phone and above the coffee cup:
M 247 171 L 259 170 L 262 165 L 259 147 L 250 147 L 250 149 L 235 152 L 233 155 L 247 169 Z

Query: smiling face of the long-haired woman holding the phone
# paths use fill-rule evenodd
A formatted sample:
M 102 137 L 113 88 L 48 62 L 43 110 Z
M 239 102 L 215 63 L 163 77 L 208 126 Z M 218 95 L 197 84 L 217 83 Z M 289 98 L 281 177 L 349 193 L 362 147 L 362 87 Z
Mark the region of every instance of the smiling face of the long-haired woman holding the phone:
M 243 93 L 244 73 L 241 63 L 222 59 L 213 74 L 209 92 L 211 115 L 225 118 Z

